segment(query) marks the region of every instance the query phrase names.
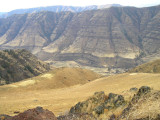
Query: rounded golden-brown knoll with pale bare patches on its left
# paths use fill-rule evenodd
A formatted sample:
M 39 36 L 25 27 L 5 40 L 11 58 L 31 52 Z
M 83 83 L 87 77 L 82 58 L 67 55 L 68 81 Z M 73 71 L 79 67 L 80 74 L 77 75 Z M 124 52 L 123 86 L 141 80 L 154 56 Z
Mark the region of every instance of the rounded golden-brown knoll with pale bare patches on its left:
M 10 85 L 10 88 L 23 87 L 23 89 L 55 89 L 74 85 L 82 85 L 100 78 L 101 75 L 81 68 L 56 68 L 39 76 L 29 78 Z

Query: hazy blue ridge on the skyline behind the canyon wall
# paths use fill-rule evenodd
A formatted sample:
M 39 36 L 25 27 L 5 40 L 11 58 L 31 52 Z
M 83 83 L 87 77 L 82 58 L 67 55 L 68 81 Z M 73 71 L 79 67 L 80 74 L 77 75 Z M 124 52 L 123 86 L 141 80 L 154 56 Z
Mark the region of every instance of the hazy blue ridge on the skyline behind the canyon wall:
M 50 12 L 56 12 L 56 13 L 65 12 L 65 11 L 83 12 L 87 10 L 97 10 L 97 9 L 104 9 L 104 8 L 110 8 L 110 7 L 121 7 L 121 5 L 107 4 L 107 5 L 91 5 L 91 6 L 85 6 L 85 7 L 57 5 L 57 6 L 37 7 L 37 8 L 29 8 L 29 9 L 16 9 L 10 12 L 2 12 L 0 13 L 0 17 L 6 18 L 14 14 L 38 13 L 42 11 L 50 11 Z

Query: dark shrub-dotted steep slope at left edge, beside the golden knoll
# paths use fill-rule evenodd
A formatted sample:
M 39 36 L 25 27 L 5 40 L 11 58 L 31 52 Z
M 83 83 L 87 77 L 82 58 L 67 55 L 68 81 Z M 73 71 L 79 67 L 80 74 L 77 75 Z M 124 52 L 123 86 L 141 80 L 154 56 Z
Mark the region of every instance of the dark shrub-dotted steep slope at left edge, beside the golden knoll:
M 26 50 L 0 51 L 0 85 L 37 76 L 50 69 Z

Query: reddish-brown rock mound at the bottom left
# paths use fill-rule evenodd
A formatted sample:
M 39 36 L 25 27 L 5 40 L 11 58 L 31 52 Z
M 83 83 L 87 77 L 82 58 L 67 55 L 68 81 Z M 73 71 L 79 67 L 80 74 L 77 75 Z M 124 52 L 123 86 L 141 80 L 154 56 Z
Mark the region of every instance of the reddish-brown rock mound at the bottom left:
M 36 107 L 6 120 L 57 120 L 57 118 L 51 111 Z

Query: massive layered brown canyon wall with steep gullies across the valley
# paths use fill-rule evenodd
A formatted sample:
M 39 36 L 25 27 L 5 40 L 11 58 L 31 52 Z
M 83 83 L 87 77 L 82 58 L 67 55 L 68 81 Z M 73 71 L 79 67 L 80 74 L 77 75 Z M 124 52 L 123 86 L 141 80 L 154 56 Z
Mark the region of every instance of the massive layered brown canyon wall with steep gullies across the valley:
M 1 18 L 0 48 L 25 48 L 45 61 L 130 68 L 160 57 L 159 28 L 160 6 L 43 11 Z

